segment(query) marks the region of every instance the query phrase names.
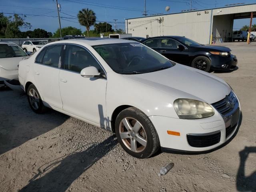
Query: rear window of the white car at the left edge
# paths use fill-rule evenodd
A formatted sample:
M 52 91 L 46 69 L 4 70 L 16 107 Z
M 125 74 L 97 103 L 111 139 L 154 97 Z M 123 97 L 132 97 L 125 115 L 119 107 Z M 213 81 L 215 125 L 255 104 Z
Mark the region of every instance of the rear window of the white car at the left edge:
M 0 58 L 25 57 L 26 53 L 15 44 L 0 44 Z

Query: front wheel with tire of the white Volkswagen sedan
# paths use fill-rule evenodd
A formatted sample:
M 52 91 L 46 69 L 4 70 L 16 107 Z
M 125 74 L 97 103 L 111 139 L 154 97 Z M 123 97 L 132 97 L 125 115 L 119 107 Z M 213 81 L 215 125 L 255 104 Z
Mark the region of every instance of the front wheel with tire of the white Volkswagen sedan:
M 158 134 L 149 118 L 134 107 L 118 114 L 116 137 L 122 148 L 136 158 L 148 158 L 160 148 Z

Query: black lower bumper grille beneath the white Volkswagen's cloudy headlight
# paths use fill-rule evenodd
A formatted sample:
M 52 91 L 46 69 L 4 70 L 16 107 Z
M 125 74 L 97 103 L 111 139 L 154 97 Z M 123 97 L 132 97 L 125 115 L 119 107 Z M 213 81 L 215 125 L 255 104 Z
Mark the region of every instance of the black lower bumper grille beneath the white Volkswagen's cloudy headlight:
M 220 142 L 220 131 L 209 134 L 188 134 L 188 144 L 192 147 L 209 147 Z

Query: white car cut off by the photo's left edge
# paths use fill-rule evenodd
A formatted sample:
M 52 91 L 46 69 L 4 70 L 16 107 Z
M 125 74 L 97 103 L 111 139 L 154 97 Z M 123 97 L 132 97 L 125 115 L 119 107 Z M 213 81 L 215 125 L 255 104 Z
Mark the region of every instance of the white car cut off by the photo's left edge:
M 18 64 L 27 56 L 15 43 L 0 42 L 0 87 L 6 80 L 18 79 Z

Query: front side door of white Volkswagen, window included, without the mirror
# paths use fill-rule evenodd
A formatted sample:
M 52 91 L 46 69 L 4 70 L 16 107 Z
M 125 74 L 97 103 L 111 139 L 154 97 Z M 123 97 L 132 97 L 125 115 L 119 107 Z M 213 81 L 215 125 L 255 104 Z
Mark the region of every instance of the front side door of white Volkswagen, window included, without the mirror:
M 81 70 L 88 66 L 95 66 L 99 72 L 103 69 L 85 48 L 68 44 L 64 49 L 65 59 L 59 76 L 63 110 L 104 126 L 107 80 L 80 75 Z

